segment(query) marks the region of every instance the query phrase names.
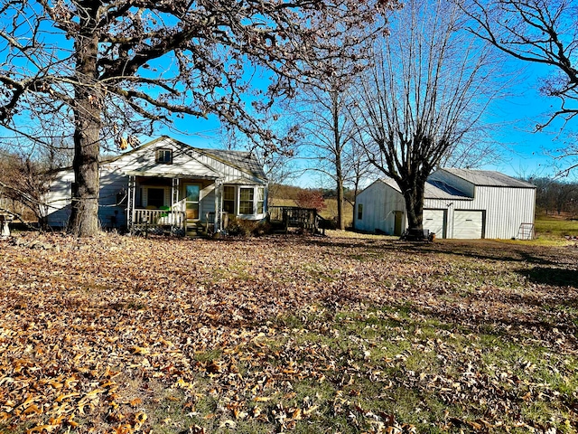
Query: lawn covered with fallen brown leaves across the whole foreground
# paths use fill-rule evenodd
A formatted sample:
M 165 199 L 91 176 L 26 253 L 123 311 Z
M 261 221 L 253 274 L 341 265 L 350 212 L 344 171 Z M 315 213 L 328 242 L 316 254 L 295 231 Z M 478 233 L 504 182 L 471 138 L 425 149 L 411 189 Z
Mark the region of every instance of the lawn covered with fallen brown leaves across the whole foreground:
M 0 431 L 578 429 L 572 245 L 16 241 Z

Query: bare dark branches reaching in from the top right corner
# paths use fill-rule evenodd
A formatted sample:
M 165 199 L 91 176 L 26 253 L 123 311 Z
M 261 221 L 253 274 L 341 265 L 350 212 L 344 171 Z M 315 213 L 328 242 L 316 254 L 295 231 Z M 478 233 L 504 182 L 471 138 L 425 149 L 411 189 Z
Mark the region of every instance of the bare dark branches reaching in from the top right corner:
M 514 59 L 550 67 L 540 92 L 559 99 L 558 109 L 536 124 L 536 130 L 555 119 L 567 122 L 578 115 L 578 5 L 573 0 L 468 0 L 458 2 L 473 20 L 470 31 Z M 558 175 L 578 167 L 575 135 L 554 152 L 564 167 Z M 568 165 L 568 162 L 571 162 Z

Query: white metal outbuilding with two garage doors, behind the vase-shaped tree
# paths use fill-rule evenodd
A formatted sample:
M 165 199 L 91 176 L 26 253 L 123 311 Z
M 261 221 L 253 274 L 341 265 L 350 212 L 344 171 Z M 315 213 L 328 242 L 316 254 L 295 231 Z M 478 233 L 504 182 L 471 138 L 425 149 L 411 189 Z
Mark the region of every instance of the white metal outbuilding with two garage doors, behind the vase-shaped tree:
M 499 172 L 445 168 L 425 184 L 424 229 L 437 238 L 529 239 L 536 187 Z M 358 194 L 355 228 L 401 235 L 406 203 L 396 182 L 380 179 Z

